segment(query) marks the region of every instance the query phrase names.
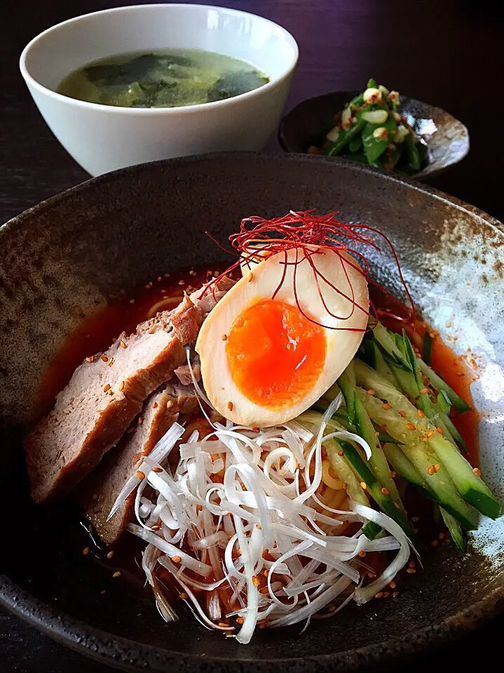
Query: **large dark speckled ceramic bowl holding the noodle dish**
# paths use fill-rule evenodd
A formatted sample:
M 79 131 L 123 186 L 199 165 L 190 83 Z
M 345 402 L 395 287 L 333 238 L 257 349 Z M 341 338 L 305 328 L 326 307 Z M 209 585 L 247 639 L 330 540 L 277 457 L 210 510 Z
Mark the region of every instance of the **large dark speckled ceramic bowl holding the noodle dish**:
M 29 209 L 0 229 L 0 419 L 4 503 L 0 601 L 65 644 L 123 669 L 205 672 L 354 671 L 418 656 L 504 606 L 503 521 L 482 521 L 470 553 L 449 543 L 423 559 L 395 600 L 349 607 L 301 637 L 259 632 L 252 644 L 189 620 L 165 625 L 149 592 L 111 580 L 70 506 L 29 500 L 20 437 L 41 375 L 93 307 L 166 269 L 222 260 L 222 241 L 250 214 L 339 208 L 395 242 L 411 293 L 457 352 L 479 354 L 482 469 L 504 493 L 504 233 L 471 206 L 345 161 L 237 153 L 127 168 Z M 390 255 L 376 277 L 397 291 Z

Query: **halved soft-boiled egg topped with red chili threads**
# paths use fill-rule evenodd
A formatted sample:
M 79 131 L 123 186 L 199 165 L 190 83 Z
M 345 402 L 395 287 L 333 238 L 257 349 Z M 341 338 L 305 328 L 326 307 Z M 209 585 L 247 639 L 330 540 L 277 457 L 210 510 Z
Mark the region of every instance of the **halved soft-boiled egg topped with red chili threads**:
M 291 248 L 252 266 L 205 319 L 196 342 L 208 399 L 237 425 L 306 411 L 357 352 L 369 309 L 355 259 Z

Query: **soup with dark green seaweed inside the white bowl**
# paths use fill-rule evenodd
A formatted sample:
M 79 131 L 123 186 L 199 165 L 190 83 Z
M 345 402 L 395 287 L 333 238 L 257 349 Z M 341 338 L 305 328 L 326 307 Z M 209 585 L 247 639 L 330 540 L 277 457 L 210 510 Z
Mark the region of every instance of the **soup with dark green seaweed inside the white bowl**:
M 57 88 L 70 98 L 118 107 L 179 107 L 224 100 L 269 81 L 250 63 L 198 49 L 135 52 L 94 61 Z

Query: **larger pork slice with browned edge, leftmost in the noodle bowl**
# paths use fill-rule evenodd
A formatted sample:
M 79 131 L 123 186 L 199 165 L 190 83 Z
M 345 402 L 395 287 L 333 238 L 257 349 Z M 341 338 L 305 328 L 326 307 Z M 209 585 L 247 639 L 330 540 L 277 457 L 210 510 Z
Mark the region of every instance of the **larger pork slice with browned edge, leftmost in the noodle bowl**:
M 76 369 L 53 411 L 25 439 L 35 502 L 67 495 L 117 444 L 146 397 L 184 364 L 184 345 L 196 341 L 203 319 L 232 285 L 222 279 L 203 296 L 186 296 Z

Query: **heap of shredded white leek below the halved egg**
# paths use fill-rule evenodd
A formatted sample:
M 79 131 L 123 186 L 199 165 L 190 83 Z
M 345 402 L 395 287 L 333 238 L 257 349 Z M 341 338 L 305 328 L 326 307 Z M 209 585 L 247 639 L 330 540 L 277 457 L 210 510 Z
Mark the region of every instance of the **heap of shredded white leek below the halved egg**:
M 342 509 L 326 505 L 320 490 L 325 439 L 353 441 L 369 457 L 357 435 L 328 432 L 341 399 L 329 404 L 318 426 L 311 424 L 313 432 L 296 421 L 266 429 L 214 422 L 208 437 L 193 433 L 179 446 L 172 473 L 162 463 L 182 437 L 182 426 L 173 425 L 144 459 L 146 469 L 139 467 L 146 477 L 135 499 L 138 523 L 129 526 L 148 542 L 142 567 L 149 583 L 156 583 L 161 564 L 198 619 L 240 643 L 250 641 L 258 624 L 306 627 L 313 616 L 334 614 L 352 598 L 365 603 L 385 587 L 407 563 L 407 536 L 385 514 L 346 495 Z M 154 472 L 156 466 L 161 470 Z M 136 477 L 127 482 L 111 515 L 138 484 Z M 346 535 L 343 524 L 355 521 L 374 521 L 388 535 L 369 540 L 355 526 Z M 360 552 L 394 549 L 385 571 L 362 586 Z M 192 589 L 205 592 L 204 606 Z M 166 604 L 160 610 L 166 613 Z M 224 621 L 235 617 L 239 628 Z

